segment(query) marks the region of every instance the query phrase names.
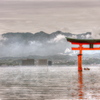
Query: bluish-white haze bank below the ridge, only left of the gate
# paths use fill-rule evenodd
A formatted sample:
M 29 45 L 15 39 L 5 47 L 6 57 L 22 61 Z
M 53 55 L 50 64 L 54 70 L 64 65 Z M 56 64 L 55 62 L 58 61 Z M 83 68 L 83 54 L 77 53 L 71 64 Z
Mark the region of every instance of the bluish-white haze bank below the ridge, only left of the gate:
M 3 39 L 1 39 L 3 40 Z M 0 45 L 0 57 L 25 57 L 32 55 L 48 56 L 64 54 L 66 48 L 70 48 L 70 43 L 65 39 L 65 36 L 58 35 L 53 40 L 47 42 L 41 41 L 28 41 L 28 44 L 24 44 L 22 41 L 18 41 L 16 38 L 14 42 Z M 6 41 L 6 39 L 4 39 Z M 69 52 L 69 51 L 68 51 Z M 66 52 L 67 54 L 67 52 Z

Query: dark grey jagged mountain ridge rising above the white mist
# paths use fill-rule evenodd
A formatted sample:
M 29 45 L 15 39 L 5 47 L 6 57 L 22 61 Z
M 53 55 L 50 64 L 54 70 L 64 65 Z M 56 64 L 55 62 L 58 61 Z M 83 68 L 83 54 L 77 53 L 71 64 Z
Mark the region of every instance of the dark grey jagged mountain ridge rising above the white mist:
M 22 42 L 22 43 L 28 43 L 29 41 L 39 41 L 39 42 L 47 42 L 50 41 L 54 38 L 56 38 L 58 35 L 63 35 L 65 37 L 75 37 L 75 38 L 80 38 L 80 39 L 86 39 L 87 36 L 91 37 L 91 33 L 83 33 L 83 34 L 72 34 L 72 33 L 64 33 L 61 31 L 56 31 L 51 34 L 45 33 L 43 31 L 37 32 L 35 34 L 27 32 L 27 33 L 5 33 L 2 34 L 3 38 L 6 38 L 6 43 L 13 43 L 13 42 Z

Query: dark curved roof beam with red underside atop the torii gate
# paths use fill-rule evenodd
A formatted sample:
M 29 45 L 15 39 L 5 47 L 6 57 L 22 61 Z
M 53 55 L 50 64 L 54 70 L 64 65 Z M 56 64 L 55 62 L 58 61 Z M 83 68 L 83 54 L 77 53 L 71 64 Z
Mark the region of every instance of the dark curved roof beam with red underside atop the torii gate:
M 100 44 L 100 39 L 74 39 L 74 38 L 67 38 L 67 41 L 76 44 Z

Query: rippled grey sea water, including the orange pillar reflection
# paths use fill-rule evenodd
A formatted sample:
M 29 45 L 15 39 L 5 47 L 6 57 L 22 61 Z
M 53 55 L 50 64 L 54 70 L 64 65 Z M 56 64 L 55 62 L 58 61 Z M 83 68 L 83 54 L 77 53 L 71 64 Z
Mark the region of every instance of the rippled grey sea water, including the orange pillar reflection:
M 100 99 L 100 66 L 87 67 L 0 67 L 0 100 Z

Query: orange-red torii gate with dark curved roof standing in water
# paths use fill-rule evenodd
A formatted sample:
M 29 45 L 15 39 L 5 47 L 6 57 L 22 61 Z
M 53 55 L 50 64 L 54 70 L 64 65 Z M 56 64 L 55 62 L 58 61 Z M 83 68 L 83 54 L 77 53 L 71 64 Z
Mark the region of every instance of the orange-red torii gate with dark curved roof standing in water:
M 79 47 L 72 47 L 72 50 L 79 50 L 78 56 L 78 71 L 82 71 L 82 50 L 100 50 L 100 47 L 94 48 L 94 45 L 100 45 L 100 39 L 73 39 L 66 38 L 71 44 L 79 45 Z M 89 48 L 83 47 L 83 45 L 89 45 Z

